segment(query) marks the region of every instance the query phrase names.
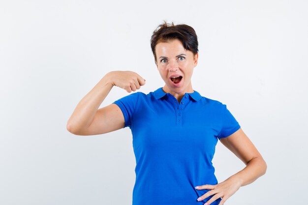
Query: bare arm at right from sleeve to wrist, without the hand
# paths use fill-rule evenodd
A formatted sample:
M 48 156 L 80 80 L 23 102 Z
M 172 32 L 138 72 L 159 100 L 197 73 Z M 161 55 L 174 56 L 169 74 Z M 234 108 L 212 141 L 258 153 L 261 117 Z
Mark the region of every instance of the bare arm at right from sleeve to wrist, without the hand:
M 245 186 L 266 173 L 266 162 L 241 128 L 232 135 L 221 138 L 220 142 L 246 164 L 243 170 L 229 178 L 235 178 L 241 186 Z

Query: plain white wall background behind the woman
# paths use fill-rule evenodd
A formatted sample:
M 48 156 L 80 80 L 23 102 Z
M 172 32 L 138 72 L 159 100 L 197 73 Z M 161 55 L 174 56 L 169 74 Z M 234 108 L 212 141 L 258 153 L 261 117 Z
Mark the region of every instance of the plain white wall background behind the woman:
M 308 151 L 305 0 L 1 0 L 0 204 L 129 205 L 129 128 L 76 136 L 66 122 L 109 71 L 162 87 L 150 48 L 163 22 L 192 26 L 192 86 L 227 104 L 267 162 L 266 175 L 225 204 L 305 204 Z M 127 95 L 113 88 L 100 107 Z M 218 182 L 244 168 L 218 142 Z M 172 188 L 172 187 L 171 187 Z

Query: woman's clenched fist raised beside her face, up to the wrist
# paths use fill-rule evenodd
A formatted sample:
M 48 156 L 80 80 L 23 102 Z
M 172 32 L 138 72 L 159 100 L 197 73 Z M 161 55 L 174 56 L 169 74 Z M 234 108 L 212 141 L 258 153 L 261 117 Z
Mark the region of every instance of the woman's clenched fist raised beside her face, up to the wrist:
M 146 80 L 133 71 L 111 71 L 107 76 L 113 86 L 123 88 L 127 92 L 136 91 L 146 84 Z

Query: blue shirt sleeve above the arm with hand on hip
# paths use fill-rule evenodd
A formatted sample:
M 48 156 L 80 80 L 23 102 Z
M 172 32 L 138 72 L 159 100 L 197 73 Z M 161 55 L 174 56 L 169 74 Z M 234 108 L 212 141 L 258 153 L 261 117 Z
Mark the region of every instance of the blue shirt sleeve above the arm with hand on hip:
M 228 137 L 233 133 L 235 133 L 240 128 L 241 128 L 240 124 L 227 109 L 227 106 L 222 104 L 221 130 L 217 135 L 217 138 L 220 140 L 221 138 Z

